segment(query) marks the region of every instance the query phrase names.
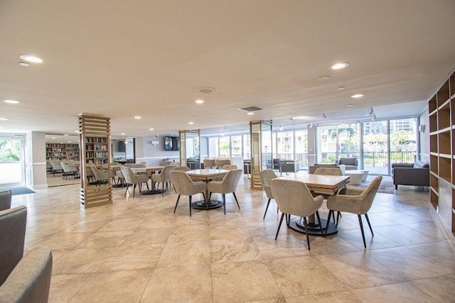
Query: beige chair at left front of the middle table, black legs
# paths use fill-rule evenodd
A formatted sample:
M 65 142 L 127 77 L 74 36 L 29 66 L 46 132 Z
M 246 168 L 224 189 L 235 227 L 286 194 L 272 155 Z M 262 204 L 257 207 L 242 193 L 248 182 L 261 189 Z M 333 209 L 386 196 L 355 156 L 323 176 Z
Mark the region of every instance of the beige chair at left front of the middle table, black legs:
M 176 207 L 173 209 L 173 213 L 176 213 L 178 200 L 180 199 L 181 194 L 186 195 L 189 197 L 189 204 L 190 204 L 190 216 L 191 216 L 191 197 L 193 194 L 203 194 L 205 199 L 204 191 L 207 188 L 207 183 L 203 181 L 193 182 L 191 178 L 181 170 L 172 170 L 169 172 L 169 178 L 176 189 L 176 193 L 178 194 Z

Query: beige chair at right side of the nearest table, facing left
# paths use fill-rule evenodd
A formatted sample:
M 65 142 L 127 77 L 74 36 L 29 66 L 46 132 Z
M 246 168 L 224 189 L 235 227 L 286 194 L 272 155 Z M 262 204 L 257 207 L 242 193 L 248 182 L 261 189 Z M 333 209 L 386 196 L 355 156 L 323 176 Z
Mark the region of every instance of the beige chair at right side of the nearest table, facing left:
M 360 231 L 362 231 L 363 246 L 365 246 L 365 248 L 367 247 L 367 244 L 365 242 L 365 233 L 363 233 L 361 215 L 365 215 L 365 219 L 367 219 L 368 226 L 370 227 L 371 236 L 374 236 L 367 213 L 373 204 L 373 200 L 375 199 L 375 195 L 378 192 L 381 180 L 382 176 L 375 177 L 375 179 L 373 179 L 373 181 L 371 181 L 370 184 L 368 184 L 368 187 L 365 189 L 346 187 L 346 189 L 344 189 L 340 194 L 328 197 L 327 199 L 329 219 L 333 211 L 347 211 L 358 215 L 358 223 L 360 224 Z M 326 226 L 326 228 L 327 227 L 328 226 Z

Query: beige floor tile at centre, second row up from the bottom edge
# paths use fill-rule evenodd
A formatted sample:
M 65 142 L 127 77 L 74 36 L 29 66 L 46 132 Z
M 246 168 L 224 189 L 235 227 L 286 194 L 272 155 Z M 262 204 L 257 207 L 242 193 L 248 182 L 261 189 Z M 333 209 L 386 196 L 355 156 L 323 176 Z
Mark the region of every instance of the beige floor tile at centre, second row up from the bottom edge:
M 262 260 L 253 238 L 210 241 L 212 263 Z

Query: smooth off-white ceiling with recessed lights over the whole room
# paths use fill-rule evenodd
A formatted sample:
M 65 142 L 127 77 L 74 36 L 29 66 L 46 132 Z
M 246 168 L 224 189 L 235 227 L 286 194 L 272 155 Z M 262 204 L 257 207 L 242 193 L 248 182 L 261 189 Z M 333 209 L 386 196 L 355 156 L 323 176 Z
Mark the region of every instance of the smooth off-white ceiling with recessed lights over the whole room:
M 81 112 L 125 136 L 418 115 L 455 64 L 454 14 L 453 0 L 2 0 L 0 100 L 21 103 L 0 101 L 0 131 L 74 134 Z

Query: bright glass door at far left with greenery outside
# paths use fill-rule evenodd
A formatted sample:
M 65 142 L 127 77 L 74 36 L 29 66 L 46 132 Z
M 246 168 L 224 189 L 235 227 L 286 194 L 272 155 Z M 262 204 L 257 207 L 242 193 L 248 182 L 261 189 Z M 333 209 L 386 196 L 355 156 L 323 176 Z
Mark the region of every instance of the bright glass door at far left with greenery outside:
M 25 185 L 23 136 L 0 136 L 0 187 Z

